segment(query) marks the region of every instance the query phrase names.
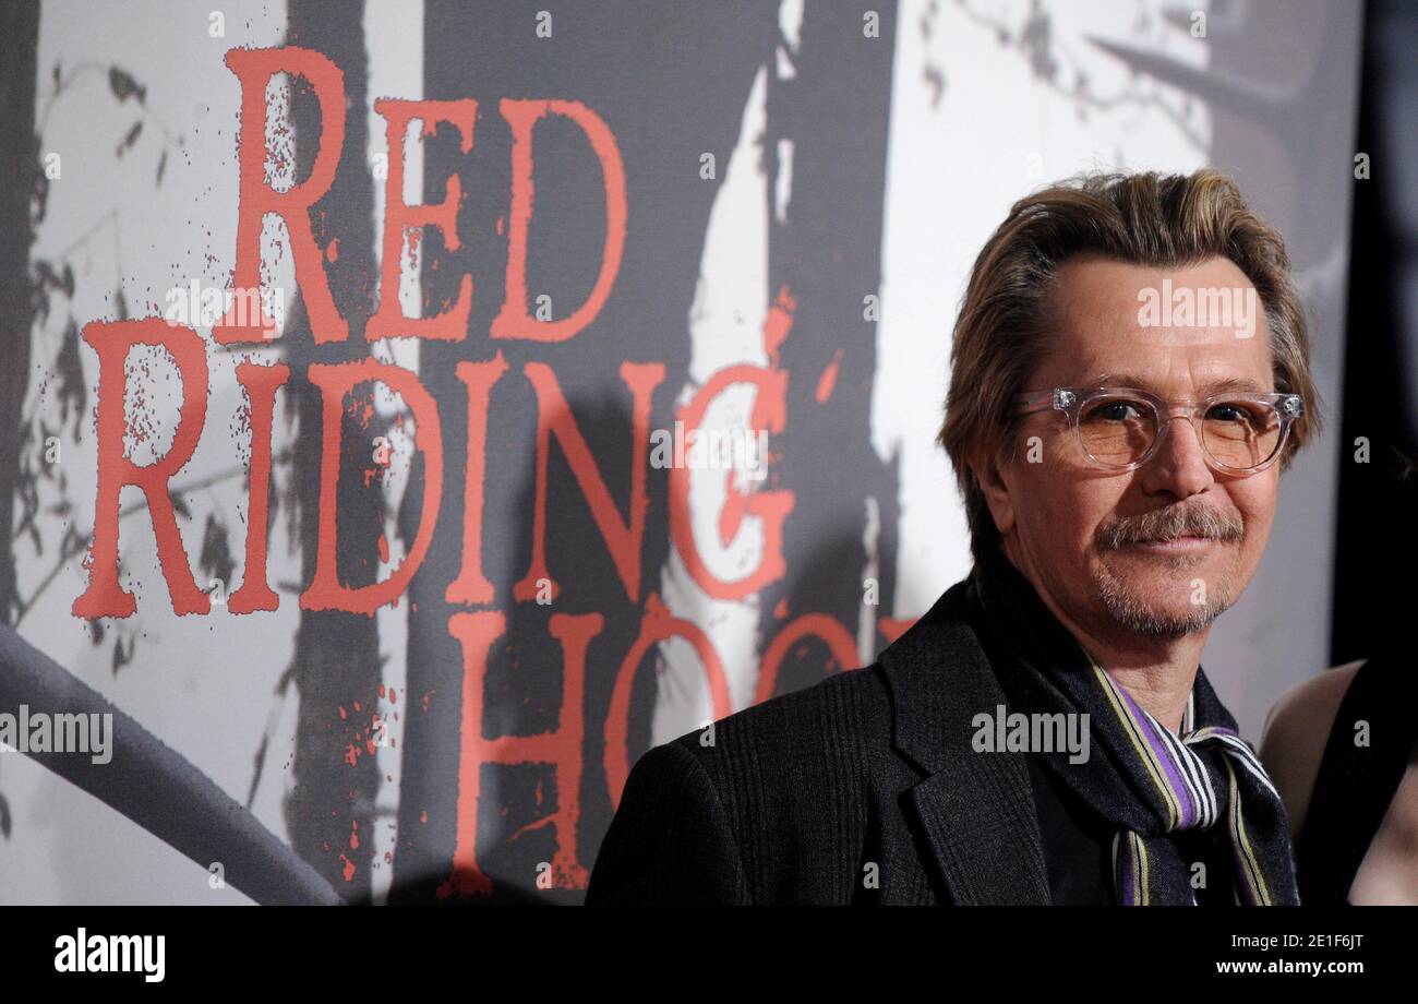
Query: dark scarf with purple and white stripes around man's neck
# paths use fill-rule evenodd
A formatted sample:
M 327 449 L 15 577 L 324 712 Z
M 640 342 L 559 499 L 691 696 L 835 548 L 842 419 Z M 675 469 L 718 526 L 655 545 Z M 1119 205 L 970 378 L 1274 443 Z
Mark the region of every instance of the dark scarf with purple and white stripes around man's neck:
M 1011 710 L 1089 716 L 1088 762 L 1038 756 L 1117 827 L 1117 903 L 1195 905 L 1191 865 L 1171 837 L 1218 825 L 1236 903 L 1299 903 L 1285 807 L 1201 666 L 1173 733 L 1098 665 L 1008 559 L 986 566 L 976 596 L 997 637 L 1010 640 L 1012 658 L 997 671 Z

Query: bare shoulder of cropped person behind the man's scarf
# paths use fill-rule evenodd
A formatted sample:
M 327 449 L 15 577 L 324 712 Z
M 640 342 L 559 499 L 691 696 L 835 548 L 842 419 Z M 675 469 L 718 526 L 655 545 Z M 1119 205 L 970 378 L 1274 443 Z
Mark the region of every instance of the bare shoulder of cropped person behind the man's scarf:
M 1357 659 L 1300 681 L 1275 702 L 1265 719 L 1261 762 L 1280 793 L 1295 840 L 1305 827 L 1334 715 L 1361 665 L 1364 659 Z

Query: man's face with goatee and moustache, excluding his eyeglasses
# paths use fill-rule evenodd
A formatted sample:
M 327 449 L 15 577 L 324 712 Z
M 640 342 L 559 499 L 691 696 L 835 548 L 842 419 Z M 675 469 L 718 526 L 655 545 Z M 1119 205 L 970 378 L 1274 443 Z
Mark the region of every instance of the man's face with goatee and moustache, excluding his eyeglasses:
M 1251 291 L 1235 299 L 1254 303 L 1252 315 L 1188 326 L 1140 318 L 1149 302 L 1140 295 L 1178 303 L 1178 291 L 1190 289 L 1202 303 L 1204 291 L 1222 288 Z M 1174 403 L 1208 397 L 1222 380 L 1275 390 L 1259 296 L 1225 258 L 1170 269 L 1081 258 L 1061 268 L 1055 296 L 1055 347 L 1028 390 L 1115 384 Z M 1249 476 L 1218 472 L 1184 413 L 1171 414 L 1156 454 L 1122 474 L 1089 462 L 1064 413 L 1027 415 L 998 482 L 986 485 L 1005 553 L 1081 625 L 1159 637 L 1198 631 L 1239 598 L 1261 562 L 1279 464 Z

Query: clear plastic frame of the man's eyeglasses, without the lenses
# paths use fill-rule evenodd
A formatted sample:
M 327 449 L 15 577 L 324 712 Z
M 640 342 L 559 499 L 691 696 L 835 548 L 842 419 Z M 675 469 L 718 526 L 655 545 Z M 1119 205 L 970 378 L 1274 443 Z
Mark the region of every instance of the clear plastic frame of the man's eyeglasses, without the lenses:
M 1083 433 L 1079 430 L 1079 417 L 1083 414 L 1083 408 L 1093 401 L 1103 397 L 1134 397 L 1150 404 L 1156 413 L 1157 418 L 1157 435 L 1153 438 L 1151 445 L 1147 451 L 1137 459 L 1129 464 L 1109 464 L 1100 461 L 1098 457 L 1089 452 L 1088 447 L 1083 444 Z M 1202 434 L 1198 420 L 1202 418 L 1212 407 L 1217 404 L 1239 403 L 1246 401 L 1252 404 L 1266 404 L 1275 408 L 1280 420 L 1280 435 L 1275 442 L 1275 450 L 1262 462 L 1254 467 L 1231 467 L 1222 464 L 1207 447 L 1207 437 Z M 1191 431 L 1197 435 L 1197 442 L 1201 444 L 1201 452 L 1207 458 L 1207 464 L 1212 469 L 1221 471 L 1231 475 L 1252 475 L 1265 471 L 1268 467 L 1275 464 L 1285 452 L 1286 440 L 1290 435 L 1290 425 L 1295 420 L 1305 414 L 1305 398 L 1299 394 L 1289 393 L 1228 393 L 1228 394 L 1212 394 L 1201 400 L 1177 400 L 1167 401 L 1151 391 L 1141 390 L 1137 387 L 1051 387 L 1048 390 L 1029 390 L 1022 394 L 1017 394 L 1012 398 L 1014 408 L 1010 411 L 1011 415 L 1027 415 L 1037 411 L 1051 411 L 1056 410 L 1064 413 L 1068 418 L 1069 428 L 1073 433 L 1073 441 L 1078 442 L 1079 451 L 1083 457 L 1098 468 L 1105 471 L 1112 471 L 1116 474 L 1123 474 L 1127 471 L 1136 471 L 1137 468 L 1147 464 L 1161 447 L 1161 441 L 1167 437 L 1167 425 L 1173 418 L 1171 411 L 1176 406 L 1187 406 L 1190 411 L 1183 415 L 1191 423 Z

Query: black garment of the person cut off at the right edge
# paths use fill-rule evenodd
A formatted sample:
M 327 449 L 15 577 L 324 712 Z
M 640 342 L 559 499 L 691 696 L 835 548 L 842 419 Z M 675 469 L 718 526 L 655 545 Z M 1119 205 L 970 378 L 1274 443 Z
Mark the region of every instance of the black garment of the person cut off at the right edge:
M 1334 713 L 1297 848 L 1306 905 L 1349 905 L 1349 889 L 1418 743 L 1418 674 L 1383 654 L 1354 674 Z M 1356 723 L 1368 723 L 1357 746 Z

